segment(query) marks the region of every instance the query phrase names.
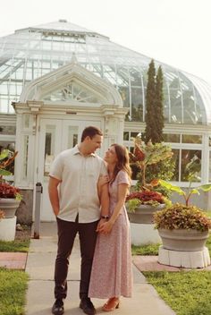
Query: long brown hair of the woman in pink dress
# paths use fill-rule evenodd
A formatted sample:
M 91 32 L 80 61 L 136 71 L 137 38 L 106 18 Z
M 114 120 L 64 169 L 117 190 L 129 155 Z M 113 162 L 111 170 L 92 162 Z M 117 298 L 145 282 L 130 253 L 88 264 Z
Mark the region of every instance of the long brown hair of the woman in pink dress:
M 129 153 L 128 149 L 126 149 L 124 146 L 120 144 L 112 144 L 112 147 L 115 149 L 116 157 L 118 162 L 116 163 L 116 166 L 114 167 L 114 175 L 111 179 L 110 183 L 113 183 L 116 175 L 119 173 L 119 171 L 125 171 L 129 177 L 129 180 L 131 181 L 131 166 L 129 162 Z

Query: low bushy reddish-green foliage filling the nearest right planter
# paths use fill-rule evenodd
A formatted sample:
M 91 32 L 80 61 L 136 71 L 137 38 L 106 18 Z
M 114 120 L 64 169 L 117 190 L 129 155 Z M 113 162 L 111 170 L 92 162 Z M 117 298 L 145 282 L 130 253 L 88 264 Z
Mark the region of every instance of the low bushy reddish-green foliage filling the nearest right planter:
M 194 229 L 207 231 L 211 228 L 211 219 L 196 206 L 175 203 L 172 207 L 156 211 L 154 214 L 156 228 Z

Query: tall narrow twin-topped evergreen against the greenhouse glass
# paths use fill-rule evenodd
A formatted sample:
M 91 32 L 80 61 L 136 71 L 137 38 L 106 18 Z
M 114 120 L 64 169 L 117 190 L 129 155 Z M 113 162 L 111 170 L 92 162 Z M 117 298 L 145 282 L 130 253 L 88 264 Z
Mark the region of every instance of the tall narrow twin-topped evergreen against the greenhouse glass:
M 159 66 L 157 74 L 154 60 L 148 66 L 148 85 L 146 95 L 145 143 L 160 143 L 164 140 L 164 109 L 163 109 L 163 72 Z

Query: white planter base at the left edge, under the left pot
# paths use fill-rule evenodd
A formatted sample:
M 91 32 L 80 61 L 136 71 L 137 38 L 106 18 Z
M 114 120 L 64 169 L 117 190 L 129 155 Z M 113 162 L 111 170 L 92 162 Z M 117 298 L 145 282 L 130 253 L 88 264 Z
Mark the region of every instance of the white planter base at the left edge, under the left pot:
M 13 241 L 16 231 L 17 217 L 2 218 L 0 221 L 0 240 Z

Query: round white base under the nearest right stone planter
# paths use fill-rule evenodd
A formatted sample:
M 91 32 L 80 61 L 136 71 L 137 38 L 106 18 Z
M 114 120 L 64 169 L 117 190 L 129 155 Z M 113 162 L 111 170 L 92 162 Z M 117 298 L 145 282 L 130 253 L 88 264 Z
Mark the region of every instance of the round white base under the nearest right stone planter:
M 160 246 L 158 262 L 173 267 L 205 268 L 210 265 L 210 256 L 207 247 L 202 251 L 170 251 Z

